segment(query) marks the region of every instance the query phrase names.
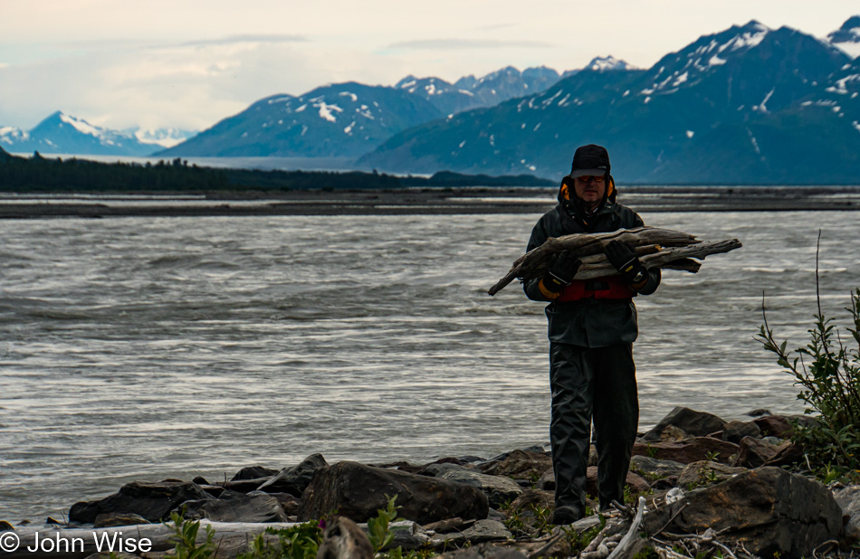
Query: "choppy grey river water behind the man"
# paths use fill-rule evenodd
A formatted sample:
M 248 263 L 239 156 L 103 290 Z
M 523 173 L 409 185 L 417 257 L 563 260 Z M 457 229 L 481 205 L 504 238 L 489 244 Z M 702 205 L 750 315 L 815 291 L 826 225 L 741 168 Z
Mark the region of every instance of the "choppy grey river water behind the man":
M 548 440 L 543 306 L 488 289 L 537 215 L 0 222 L 0 518 L 254 463 L 491 456 Z M 638 298 L 640 428 L 799 412 L 799 346 L 860 285 L 857 213 L 652 213 L 744 248 Z

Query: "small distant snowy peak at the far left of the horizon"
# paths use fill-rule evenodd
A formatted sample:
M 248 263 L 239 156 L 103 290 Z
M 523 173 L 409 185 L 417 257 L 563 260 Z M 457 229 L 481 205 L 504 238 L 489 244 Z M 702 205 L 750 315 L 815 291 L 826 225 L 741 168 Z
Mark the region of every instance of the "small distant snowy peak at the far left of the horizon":
M 0 128 L 0 144 L 18 153 L 146 156 L 154 151 L 134 134 L 93 126 L 59 110 L 29 131 Z

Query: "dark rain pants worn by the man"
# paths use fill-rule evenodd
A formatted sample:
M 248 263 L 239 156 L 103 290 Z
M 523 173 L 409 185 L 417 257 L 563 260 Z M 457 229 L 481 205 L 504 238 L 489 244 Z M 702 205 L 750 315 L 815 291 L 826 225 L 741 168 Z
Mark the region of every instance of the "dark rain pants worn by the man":
M 639 422 L 633 345 L 589 348 L 550 342 L 549 385 L 556 507 L 585 513 L 592 417 L 600 508 L 613 500 L 623 503 Z

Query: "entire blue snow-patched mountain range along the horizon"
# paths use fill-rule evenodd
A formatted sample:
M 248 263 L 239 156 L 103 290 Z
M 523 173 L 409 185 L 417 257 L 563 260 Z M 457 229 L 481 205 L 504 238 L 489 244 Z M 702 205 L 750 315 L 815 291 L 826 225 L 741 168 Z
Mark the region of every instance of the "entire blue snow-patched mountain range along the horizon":
M 508 67 L 454 83 L 406 76 L 393 87 L 330 84 L 261 99 L 178 144 L 181 132 L 161 132 L 160 141 L 58 112 L 29 132 L 0 128 L 0 146 L 347 157 L 356 168 L 395 173 L 559 178 L 575 147 L 596 142 L 609 147 L 613 174 L 625 182 L 856 184 L 858 54 L 860 16 L 826 39 L 752 21 L 702 36 L 646 70 L 607 57 L 560 76 Z

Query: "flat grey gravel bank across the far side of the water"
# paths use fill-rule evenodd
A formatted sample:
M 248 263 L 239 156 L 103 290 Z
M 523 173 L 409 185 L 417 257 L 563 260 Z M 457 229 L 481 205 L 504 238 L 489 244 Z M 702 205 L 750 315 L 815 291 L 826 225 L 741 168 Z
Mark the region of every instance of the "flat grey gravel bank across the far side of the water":
M 544 213 L 557 189 L 542 187 L 295 190 L 256 193 L 12 194 L 0 219 L 243 215 Z M 856 186 L 626 186 L 619 202 L 647 212 L 860 210 Z

